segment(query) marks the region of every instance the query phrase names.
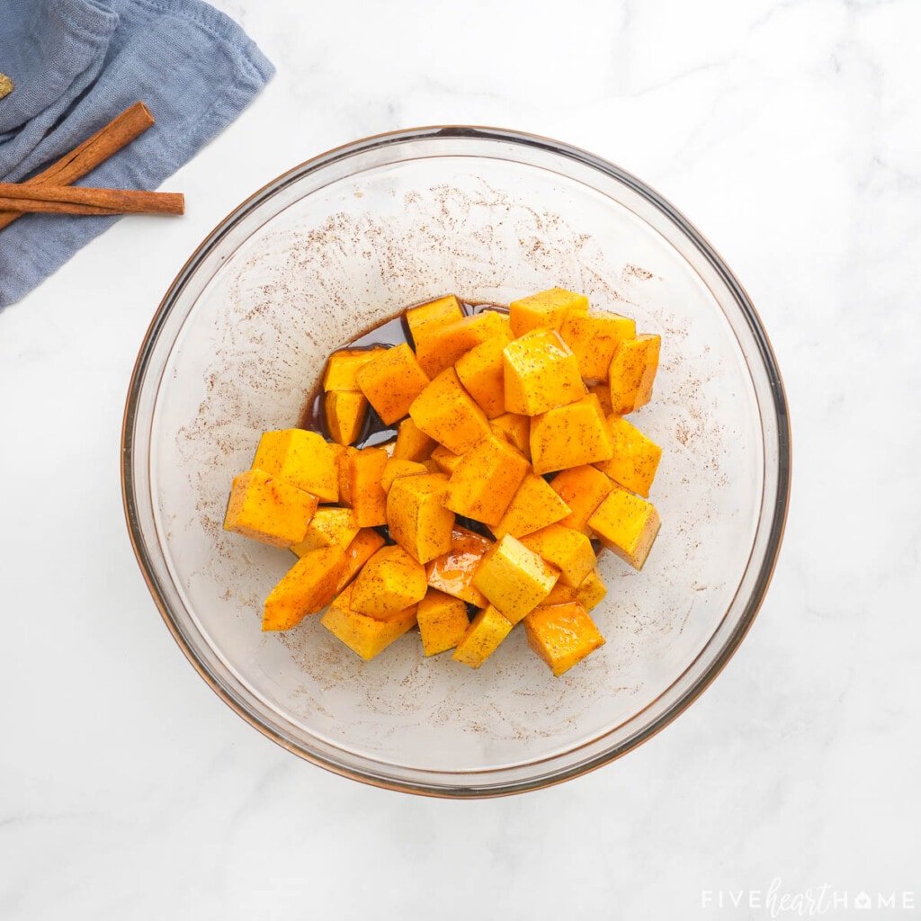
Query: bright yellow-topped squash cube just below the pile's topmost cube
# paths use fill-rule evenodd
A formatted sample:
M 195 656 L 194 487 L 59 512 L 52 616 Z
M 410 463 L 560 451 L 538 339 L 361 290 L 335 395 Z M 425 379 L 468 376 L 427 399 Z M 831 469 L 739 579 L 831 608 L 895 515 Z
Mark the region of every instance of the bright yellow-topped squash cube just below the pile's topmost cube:
M 538 415 L 585 395 L 576 356 L 554 330 L 529 332 L 502 355 L 509 413 Z

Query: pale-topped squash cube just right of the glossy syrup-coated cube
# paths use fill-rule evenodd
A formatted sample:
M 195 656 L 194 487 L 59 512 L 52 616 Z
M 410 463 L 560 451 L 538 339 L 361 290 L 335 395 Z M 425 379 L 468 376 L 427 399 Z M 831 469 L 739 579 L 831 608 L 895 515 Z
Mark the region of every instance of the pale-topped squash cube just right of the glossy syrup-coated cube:
M 550 594 L 559 575 L 538 554 L 506 534 L 484 556 L 473 574 L 473 585 L 512 624 L 518 624 Z

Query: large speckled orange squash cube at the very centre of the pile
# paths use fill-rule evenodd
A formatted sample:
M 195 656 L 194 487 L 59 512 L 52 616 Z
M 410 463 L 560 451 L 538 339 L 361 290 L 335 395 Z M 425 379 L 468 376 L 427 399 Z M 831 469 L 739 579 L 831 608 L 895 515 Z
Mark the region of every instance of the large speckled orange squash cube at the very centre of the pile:
M 459 515 L 497 525 L 528 472 L 528 461 L 504 438 L 485 437 L 451 473 L 445 504 Z

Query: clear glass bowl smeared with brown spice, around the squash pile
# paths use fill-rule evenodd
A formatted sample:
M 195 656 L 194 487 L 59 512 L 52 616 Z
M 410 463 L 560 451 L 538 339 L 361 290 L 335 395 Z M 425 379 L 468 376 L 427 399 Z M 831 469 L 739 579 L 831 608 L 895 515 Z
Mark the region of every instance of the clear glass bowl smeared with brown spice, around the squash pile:
M 285 551 L 225 533 L 263 429 L 297 424 L 329 353 L 445 292 L 554 285 L 662 335 L 653 402 L 662 529 L 642 572 L 602 554 L 607 645 L 554 678 L 515 630 L 480 670 L 417 636 L 357 659 L 308 617 L 263 634 Z M 783 386 L 749 298 L 641 181 L 516 132 L 382 134 L 292 169 L 227 216 L 169 287 L 125 408 L 134 551 L 176 641 L 239 715 L 309 761 L 451 797 L 543 787 L 630 751 L 738 647 L 764 599 L 789 487 Z

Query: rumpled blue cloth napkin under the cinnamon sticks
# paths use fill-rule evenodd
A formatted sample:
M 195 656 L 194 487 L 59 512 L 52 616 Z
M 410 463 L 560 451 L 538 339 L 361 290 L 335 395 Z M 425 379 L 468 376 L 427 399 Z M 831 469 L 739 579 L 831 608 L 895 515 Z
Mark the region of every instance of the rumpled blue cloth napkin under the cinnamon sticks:
M 141 100 L 157 119 L 77 184 L 155 189 L 274 74 L 242 29 L 200 0 L 0 0 L 0 179 L 63 157 Z M 27 215 L 0 230 L 0 309 L 117 217 Z

